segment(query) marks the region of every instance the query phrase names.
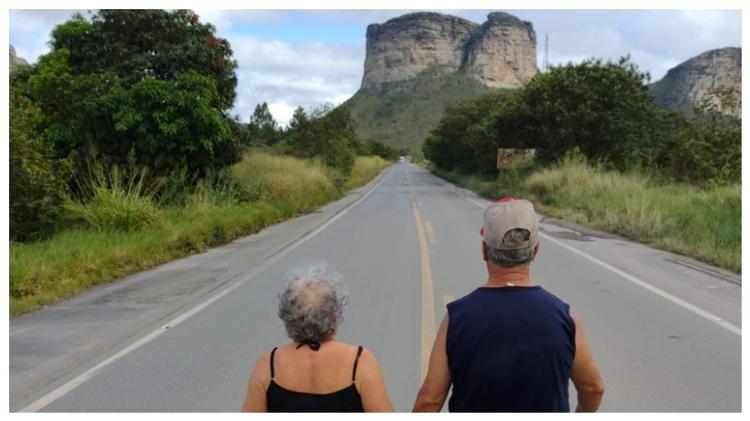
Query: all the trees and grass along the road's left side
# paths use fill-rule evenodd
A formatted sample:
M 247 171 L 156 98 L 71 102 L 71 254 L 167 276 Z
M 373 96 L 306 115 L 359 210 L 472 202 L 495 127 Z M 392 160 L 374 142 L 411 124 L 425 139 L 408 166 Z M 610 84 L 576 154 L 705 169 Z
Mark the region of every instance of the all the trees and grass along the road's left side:
M 397 158 L 344 107 L 228 116 L 231 47 L 193 12 L 100 10 L 51 38 L 11 73 L 11 314 L 314 210 Z

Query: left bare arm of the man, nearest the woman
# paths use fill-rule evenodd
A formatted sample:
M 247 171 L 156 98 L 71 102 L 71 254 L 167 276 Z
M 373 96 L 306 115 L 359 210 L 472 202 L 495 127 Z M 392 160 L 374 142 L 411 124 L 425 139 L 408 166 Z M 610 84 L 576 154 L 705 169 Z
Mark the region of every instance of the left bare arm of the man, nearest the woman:
M 451 385 L 451 373 L 448 369 L 448 355 L 445 353 L 445 340 L 448 335 L 448 314 L 440 323 L 435 343 L 430 354 L 422 388 L 419 389 L 413 412 L 439 412 L 443 408 L 448 389 Z

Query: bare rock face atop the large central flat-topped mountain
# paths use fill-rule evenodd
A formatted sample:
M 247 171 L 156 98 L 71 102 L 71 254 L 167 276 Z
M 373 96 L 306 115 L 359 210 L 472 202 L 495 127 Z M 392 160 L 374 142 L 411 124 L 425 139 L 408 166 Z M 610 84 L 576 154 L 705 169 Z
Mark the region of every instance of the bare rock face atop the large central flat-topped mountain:
M 426 69 L 462 71 L 489 87 L 521 87 L 537 72 L 533 26 L 501 12 L 481 26 L 417 12 L 367 27 L 363 89 L 411 80 Z

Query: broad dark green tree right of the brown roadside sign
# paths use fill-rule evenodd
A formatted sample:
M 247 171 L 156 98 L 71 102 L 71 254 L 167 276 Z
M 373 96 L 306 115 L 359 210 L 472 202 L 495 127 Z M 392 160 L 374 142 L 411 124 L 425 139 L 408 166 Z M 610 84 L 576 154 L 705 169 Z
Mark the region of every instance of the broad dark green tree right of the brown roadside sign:
M 629 57 L 616 63 L 589 59 L 552 67 L 521 92 L 512 114 L 517 136 L 527 147 L 537 148 L 543 162 L 559 159 L 574 147 L 619 169 L 642 162 L 654 116 L 648 80 L 648 73 L 640 72 Z M 504 125 L 499 121 L 497 126 Z

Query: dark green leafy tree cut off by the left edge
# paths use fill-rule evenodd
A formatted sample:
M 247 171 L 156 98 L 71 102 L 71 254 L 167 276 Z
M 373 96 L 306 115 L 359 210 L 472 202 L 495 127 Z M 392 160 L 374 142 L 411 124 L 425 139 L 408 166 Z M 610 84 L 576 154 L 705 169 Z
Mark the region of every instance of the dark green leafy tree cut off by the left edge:
M 36 132 L 39 109 L 20 90 L 10 92 L 10 238 L 27 241 L 49 235 L 65 198 L 65 161 Z

